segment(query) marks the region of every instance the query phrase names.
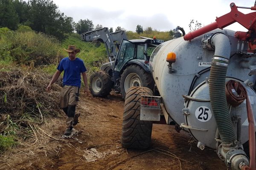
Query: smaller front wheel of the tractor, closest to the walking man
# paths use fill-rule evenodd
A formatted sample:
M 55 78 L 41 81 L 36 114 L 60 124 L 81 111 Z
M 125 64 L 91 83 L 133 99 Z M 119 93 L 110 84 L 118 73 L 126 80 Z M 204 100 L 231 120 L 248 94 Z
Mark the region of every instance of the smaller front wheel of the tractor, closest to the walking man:
M 96 71 L 90 76 L 90 91 L 93 96 L 108 96 L 112 86 L 111 77 L 105 71 Z

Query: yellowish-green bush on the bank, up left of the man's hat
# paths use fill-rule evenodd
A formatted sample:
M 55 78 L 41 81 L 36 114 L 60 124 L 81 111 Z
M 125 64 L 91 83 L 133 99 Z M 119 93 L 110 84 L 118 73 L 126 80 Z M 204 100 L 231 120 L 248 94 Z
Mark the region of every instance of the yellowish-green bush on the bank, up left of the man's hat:
M 34 31 L 15 31 L 7 37 L 12 45 L 10 55 L 18 64 L 29 65 L 33 61 L 35 66 L 48 65 L 55 61 L 60 48 L 56 38 Z

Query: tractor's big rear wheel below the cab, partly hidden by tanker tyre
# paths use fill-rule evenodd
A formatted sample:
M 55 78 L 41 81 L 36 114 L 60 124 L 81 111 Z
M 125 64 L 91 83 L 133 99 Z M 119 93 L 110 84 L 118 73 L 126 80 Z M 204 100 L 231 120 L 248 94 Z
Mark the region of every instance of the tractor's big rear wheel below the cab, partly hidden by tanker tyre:
M 125 68 L 120 80 L 120 91 L 124 99 L 128 89 L 133 86 L 143 86 L 153 90 L 154 79 L 140 65 L 130 65 Z

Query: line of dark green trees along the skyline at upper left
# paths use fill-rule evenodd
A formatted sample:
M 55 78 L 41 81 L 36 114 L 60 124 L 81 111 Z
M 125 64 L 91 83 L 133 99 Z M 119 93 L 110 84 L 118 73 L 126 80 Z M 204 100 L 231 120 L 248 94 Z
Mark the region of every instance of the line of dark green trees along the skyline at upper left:
M 0 0 L 0 28 L 7 27 L 16 30 L 19 26 L 29 26 L 32 30 L 43 32 L 64 40 L 68 34 L 76 31 L 78 34 L 103 28 L 94 27 L 89 19 L 79 20 L 77 23 L 72 17 L 67 17 L 59 11 L 52 0 Z M 122 28 L 117 27 L 115 31 Z M 110 32 L 113 32 L 111 27 Z

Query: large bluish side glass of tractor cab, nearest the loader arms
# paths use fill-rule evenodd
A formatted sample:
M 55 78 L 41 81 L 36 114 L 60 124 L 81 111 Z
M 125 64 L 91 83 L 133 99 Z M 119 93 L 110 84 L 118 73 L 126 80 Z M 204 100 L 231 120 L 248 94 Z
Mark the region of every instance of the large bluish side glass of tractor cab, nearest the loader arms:
M 131 58 L 134 58 L 135 45 L 127 40 L 123 40 L 116 57 L 115 71 L 120 71 L 123 65 Z

